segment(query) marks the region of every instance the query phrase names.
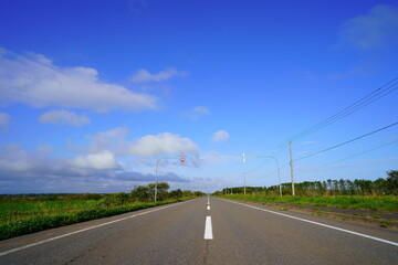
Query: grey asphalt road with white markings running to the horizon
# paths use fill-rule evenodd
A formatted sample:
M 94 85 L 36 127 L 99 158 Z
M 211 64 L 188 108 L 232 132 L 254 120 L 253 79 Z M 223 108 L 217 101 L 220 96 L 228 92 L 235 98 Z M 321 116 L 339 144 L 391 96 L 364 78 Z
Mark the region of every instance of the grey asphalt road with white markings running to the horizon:
M 0 264 L 398 264 L 396 231 L 209 202 L 210 210 L 202 198 L 0 241 Z

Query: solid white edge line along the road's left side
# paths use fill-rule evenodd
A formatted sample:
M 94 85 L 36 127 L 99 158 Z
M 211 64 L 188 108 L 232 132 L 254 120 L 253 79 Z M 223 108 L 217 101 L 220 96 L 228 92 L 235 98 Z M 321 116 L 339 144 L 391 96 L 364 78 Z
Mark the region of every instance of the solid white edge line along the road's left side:
M 192 200 L 189 200 L 189 201 L 192 201 Z M 185 202 L 181 202 L 181 203 L 186 203 L 186 202 L 189 202 L 189 201 L 185 201 Z M 102 224 L 97 224 L 97 225 L 94 225 L 94 226 L 91 226 L 91 227 L 87 227 L 87 229 L 77 230 L 77 231 L 74 231 L 74 232 L 71 232 L 71 233 L 66 233 L 66 234 L 59 235 L 59 236 L 55 236 L 55 237 L 51 237 L 51 239 L 48 239 L 48 240 L 39 241 L 39 242 L 32 243 L 32 244 L 28 244 L 28 245 L 23 245 L 23 246 L 20 246 L 20 247 L 15 247 L 15 248 L 12 248 L 12 250 L 9 250 L 9 251 L 1 252 L 1 253 L 0 253 L 0 256 L 4 256 L 4 255 L 10 254 L 10 253 L 13 253 L 13 252 L 22 251 L 22 250 L 24 250 L 24 248 L 32 247 L 32 246 L 36 246 L 36 245 L 41 245 L 41 244 L 43 244 L 43 243 L 46 243 L 46 242 L 50 242 L 50 241 L 54 241 L 54 240 L 59 240 L 59 239 L 62 239 L 62 237 L 66 237 L 66 236 L 73 235 L 73 234 L 82 233 L 82 232 L 85 232 L 85 231 L 88 231 L 88 230 L 92 230 L 92 229 L 97 229 L 97 227 L 101 227 L 101 226 L 104 226 L 104 225 L 108 225 L 108 224 L 113 224 L 113 223 L 117 223 L 117 222 L 121 222 L 121 221 L 124 221 L 124 220 L 127 220 L 127 219 L 133 219 L 133 218 L 137 218 L 137 216 L 144 215 L 144 214 L 147 214 L 147 213 L 160 211 L 160 210 L 164 210 L 164 209 L 167 209 L 167 208 L 170 208 L 170 206 L 181 205 L 181 203 L 176 203 L 176 204 L 171 204 L 171 205 L 167 205 L 167 206 L 163 206 L 163 208 L 149 210 L 149 211 L 147 211 L 147 212 L 137 213 L 137 214 L 135 214 L 135 215 L 130 215 L 130 216 L 117 219 L 117 220 L 114 220 L 114 221 L 111 221 L 111 222 L 106 222 L 106 223 L 102 223 Z

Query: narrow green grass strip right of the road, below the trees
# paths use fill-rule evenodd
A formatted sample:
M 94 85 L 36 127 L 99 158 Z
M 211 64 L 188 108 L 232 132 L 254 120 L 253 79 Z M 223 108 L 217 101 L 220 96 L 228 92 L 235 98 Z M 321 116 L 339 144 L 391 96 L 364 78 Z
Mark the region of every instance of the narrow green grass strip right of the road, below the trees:
M 338 195 L 338 197 L 264 197 L 264 195 L 243 195 L 233 194 L 223 198 L 262 201 L 262 202 L 285 202 L 296 204 L 311 204 L 314 206 L 337 206 L 344 209 L 364 209 L 374 211 L 395 212 L 398 211 L 398 197 L 360 197 L 360 195 Z

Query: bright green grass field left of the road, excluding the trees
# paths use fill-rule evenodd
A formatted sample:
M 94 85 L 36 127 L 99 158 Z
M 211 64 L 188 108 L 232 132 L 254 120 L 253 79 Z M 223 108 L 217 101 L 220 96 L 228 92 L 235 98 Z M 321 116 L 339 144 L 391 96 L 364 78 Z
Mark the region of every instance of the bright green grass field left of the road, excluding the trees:
M 102 200 L 2 200 L 0 240 L 181 200 L 104 205 Z

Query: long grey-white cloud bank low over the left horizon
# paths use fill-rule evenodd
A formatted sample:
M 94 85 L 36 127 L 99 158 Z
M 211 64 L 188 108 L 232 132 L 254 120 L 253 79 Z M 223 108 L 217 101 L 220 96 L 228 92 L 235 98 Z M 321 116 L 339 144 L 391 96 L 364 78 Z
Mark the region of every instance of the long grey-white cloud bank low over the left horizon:
M 86 157 L 52 157 L 50 147 L 36 151 L 17 145 L 0 148 L 0 193 L 28 192 L 121 192 L 134 184 L 154 181 L 150 172 L 124 170 L 114 161 L 112 152 Z M 172 172 L 159 173 L 158 180 L 189 184 L 189 178 Z

